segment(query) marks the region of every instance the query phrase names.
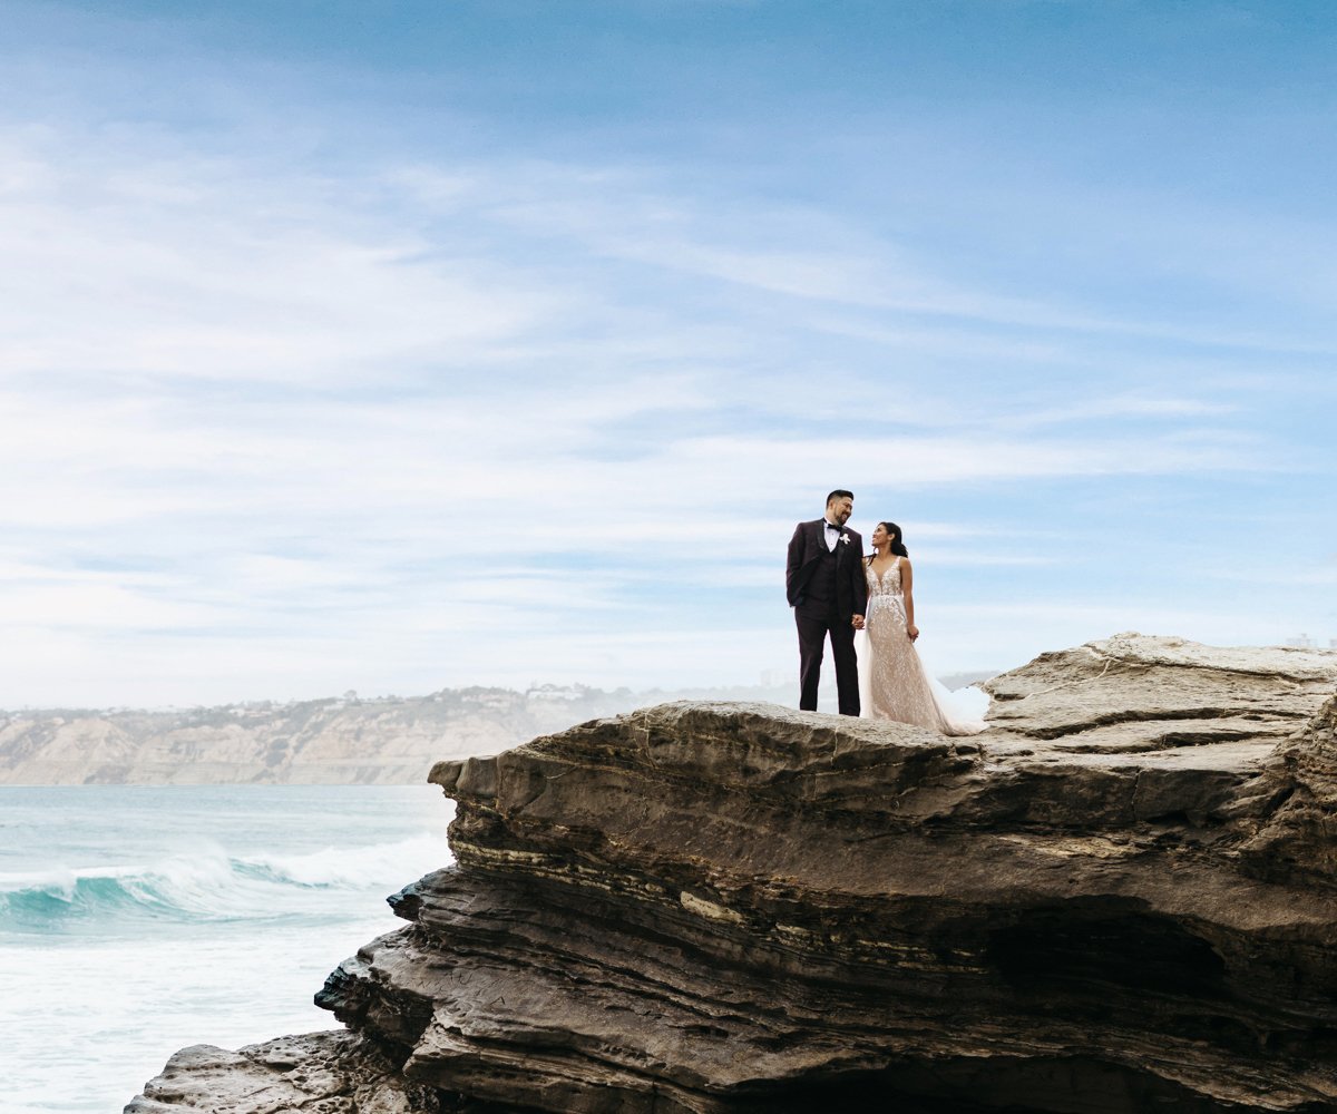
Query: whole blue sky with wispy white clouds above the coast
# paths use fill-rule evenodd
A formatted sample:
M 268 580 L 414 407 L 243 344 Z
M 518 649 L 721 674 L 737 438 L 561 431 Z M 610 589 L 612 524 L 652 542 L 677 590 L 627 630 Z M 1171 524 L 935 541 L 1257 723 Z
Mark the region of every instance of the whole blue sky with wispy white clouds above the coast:
M 0 11 L 0 707 L 1337 639 L 1334 5 Z

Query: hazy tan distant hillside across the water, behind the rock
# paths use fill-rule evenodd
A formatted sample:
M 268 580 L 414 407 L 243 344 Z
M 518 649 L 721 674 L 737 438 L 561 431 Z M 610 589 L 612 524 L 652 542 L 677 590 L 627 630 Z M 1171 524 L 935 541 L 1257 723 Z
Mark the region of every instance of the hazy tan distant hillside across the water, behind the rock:
M 0 711 L 0 785 L 417 784 L 443 758 L 491 754 L 586 719 L 671 699 L 793 705 L 794 689 L 544 685 L 168 711 Z

